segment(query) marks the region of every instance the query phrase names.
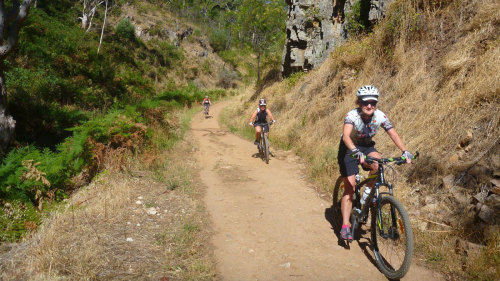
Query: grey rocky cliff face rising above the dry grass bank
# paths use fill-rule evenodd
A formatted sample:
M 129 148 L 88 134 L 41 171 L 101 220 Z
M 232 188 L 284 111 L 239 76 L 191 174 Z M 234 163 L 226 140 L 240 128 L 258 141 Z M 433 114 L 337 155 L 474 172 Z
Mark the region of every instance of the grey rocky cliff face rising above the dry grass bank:
M 320 65 L 349 36 L 344 20 L 361 1 L 361 17 L 374 23 L 393 0 L 286 0 L 287 41 L 283 50 L 283 76 Z

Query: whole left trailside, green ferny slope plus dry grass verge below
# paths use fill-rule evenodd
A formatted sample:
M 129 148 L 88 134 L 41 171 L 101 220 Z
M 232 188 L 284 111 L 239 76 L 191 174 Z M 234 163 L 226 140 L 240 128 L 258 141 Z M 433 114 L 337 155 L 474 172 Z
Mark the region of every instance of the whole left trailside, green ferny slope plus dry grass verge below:
M 214 278 L 183 138 L 205 95 L 241 81 L 205 27 L 154 1 L 110 3 L 99 47 L 103 5 L 86 32 L 80 2 L 38 1 L 7 59 L 2 280 Z

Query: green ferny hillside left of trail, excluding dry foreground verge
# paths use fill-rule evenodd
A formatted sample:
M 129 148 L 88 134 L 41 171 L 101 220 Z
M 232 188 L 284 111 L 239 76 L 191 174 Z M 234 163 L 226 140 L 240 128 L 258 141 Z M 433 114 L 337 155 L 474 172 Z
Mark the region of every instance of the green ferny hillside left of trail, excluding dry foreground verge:
M 1 155 L 0 243 L 36 229 L 108 155 L 170 148 L 179 111 L 241 83 L 199 26 L 149 1 L 113 2 L 100 44 L 104 9 L 87 31 L 81 3 L 39 1 L 4 62 L 16 132 Z

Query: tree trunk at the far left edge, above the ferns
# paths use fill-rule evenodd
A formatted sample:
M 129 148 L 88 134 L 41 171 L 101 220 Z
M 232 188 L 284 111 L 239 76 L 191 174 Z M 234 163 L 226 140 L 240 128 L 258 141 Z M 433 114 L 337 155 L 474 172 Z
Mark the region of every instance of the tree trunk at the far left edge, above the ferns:
M 19 30 L 28 16 L 33 0 L 12 0 L 8 9 L 4 0 L 0 0 L 0 150 L 11 143 L 16 121 L 9 113 L 7 106 L 7 86 L 5 84 L 6 56 L 14 49 L 19 40 Z

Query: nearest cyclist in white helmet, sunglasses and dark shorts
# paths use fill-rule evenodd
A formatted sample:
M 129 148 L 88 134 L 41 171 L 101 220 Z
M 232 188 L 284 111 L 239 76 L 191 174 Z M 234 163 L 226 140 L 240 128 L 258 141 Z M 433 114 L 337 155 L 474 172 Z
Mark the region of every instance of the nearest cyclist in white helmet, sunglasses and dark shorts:
M 349 226 L 349 217 L 352 209 L 352 196 L 356 184 L 356 174 L 359 173 L 358 162 L 364 170 L 369 170 L 370 175 L 376 174 L 378 164 L 365 163 L 364 156 L 381 158 L 380 153 L 375 149 L 373 136 L 380 127 L 384 128 L 394 144 L 401 149 L 408 164 L 411 163 L 413 155 L 406 150 L 403 141 L 396 133 L 386 115 L 376 109 L 379 92 L 377 88 L 366 85 L 358 89 L 356 104 L 358 108 L 347 113 L 344 119 L 344 129 L 340 140 L 338 161 L 340 174 L 344 180 L 344 195 L 342 196 L 342 228 L 340 236 L 344 240 L 352 240 L 352 232 Z M 353 158 L 354 157 L 354 158 Z M 369 184 L 373 187 L 373 182 Z

